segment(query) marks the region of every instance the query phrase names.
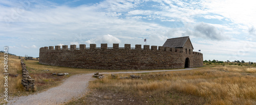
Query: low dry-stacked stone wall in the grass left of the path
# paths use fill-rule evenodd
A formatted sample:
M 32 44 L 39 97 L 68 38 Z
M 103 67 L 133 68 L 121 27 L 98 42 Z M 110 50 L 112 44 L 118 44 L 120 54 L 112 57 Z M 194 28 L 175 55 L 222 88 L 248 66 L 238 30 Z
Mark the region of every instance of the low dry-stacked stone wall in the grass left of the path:
M 34 79 L 29 76 L 29 71 L 27 70 L 26 64 L 23 62 L 23 59 L 20 60 L 22 64 L 22 85 L 24 86 L 25 91 L 35 91 Z

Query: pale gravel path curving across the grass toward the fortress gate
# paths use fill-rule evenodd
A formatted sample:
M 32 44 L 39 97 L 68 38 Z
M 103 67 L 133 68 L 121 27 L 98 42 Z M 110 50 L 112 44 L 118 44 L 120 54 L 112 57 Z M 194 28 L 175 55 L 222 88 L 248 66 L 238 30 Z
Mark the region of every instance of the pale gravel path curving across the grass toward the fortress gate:
M 164 71 L 181 71 L 192 70 L 195 68 L 173 69 L 173 70 L 151 70 L 151 71 L 124 71 L 124 72 L 102 72 L 100 74 L 117 74 L 117 73 L 145 73 L 145 72 L 164 72 Z M 93 73 L 77 74 L 67 78 L 61 85 L 51 88 L 47 91 L 31 94 L 28 96 L 14 97 L 8 101 L 8 104 L 62 104 L 71 99 L 78 99 L 86 93 L 88 82 L 95 80 Z

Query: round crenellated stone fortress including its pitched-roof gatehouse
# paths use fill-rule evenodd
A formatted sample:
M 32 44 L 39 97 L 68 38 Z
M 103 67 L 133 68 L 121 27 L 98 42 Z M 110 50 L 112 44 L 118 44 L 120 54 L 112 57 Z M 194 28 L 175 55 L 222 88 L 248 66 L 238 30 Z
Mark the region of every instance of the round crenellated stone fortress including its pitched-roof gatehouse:
M 202 67 L 203 54 L 194 52 L 189 37 L 167 39 L 163 46 L 85 44 L 41 47 L 39 63 L 86 69 L 173 69 Z

